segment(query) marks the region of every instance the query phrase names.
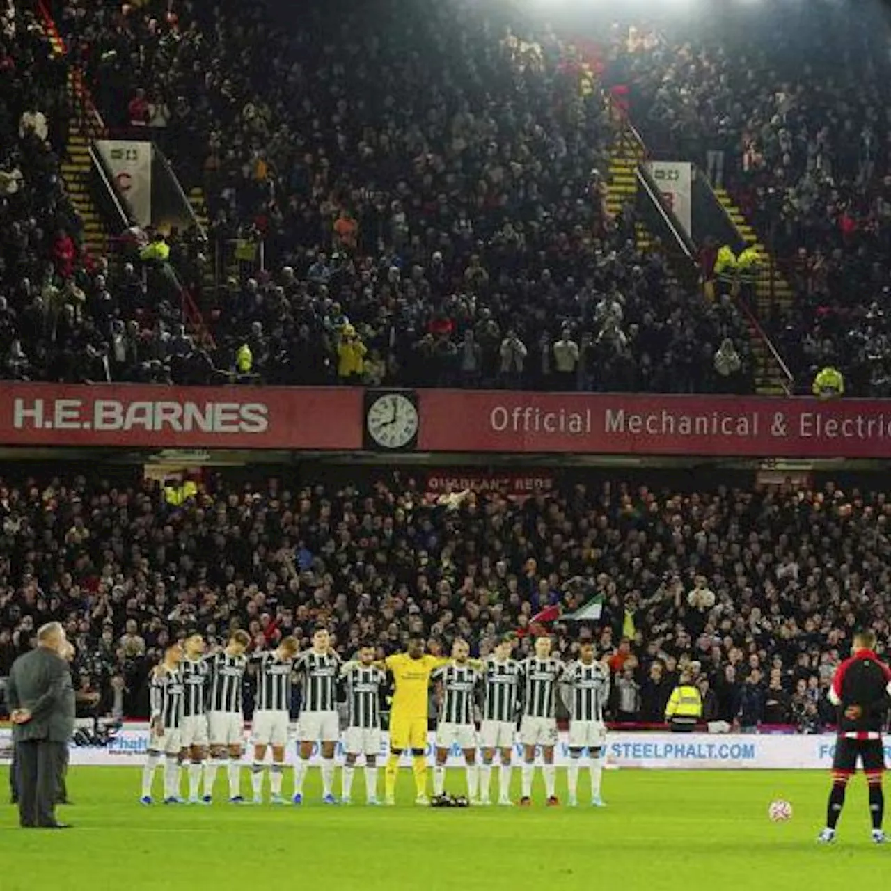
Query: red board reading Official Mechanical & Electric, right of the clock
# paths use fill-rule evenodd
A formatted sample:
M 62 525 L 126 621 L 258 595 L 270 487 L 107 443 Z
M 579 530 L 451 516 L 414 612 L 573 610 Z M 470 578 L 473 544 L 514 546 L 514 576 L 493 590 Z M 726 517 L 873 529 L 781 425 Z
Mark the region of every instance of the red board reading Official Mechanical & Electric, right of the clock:
M 425 390 L 420 408 L 429 452 L 891 457 L 891 400 Z

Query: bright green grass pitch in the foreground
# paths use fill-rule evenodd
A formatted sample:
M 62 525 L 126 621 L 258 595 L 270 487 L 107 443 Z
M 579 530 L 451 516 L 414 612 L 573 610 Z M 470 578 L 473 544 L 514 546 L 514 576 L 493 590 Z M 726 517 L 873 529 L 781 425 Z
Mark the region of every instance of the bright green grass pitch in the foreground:
M 463 772 L 449 773 L 446 788 L 462 792 Z M 135 768 L 72 768 L 76 804 L 59 811 L 75 824 L 67 832 L 19 830 L 15 808 L 0 806 L 0 888 L 838 891 L 880 885 L 891 863 L 891 846 L 871 845 L 862 777 L 848 792 L 838 842 L 814 843 L 829 788 L 822 772 L 609 771 L 603 810 L 545 808 L 540 775 L 530 810 L 418 808 L 408 771 L 399 780 L 402 804 L 391 809 L 317 803 L 316 770 L 300 808 L 143 807 L 139 781 Z M 289 773 L 286 791 L 290 782 Z M 562 772 L 559 782 L 564 797 Z M 5 791 L 5 771 L 0 783 Z M 225 777 L 218 784 L 224 789 Z M 586 789 L 583 772 L 579 791 Z M 354 793 L 361 802 L 361 771 Z M 795 808 L 789 823 L 767 818 L 778 797 Z

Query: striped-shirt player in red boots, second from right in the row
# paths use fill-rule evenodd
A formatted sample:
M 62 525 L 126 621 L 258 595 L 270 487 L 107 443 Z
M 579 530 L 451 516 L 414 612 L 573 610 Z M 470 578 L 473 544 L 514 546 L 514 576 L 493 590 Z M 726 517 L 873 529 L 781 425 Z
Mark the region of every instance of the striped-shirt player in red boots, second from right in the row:
M 557 685 L 563 679 L 563 665 L 551 655 L 551 638 L 535 640 L 535 656 L 520 663 L 522 669 L 522 717 L 519 741 L 523 744 L 521 807 L 532 804 L 532 782 L 535 779 L 535 748 L 542 747 L 544 789 L 548 807 L 560 805 L 555 794 L 557 768 L 554 747 L 557 745 Z

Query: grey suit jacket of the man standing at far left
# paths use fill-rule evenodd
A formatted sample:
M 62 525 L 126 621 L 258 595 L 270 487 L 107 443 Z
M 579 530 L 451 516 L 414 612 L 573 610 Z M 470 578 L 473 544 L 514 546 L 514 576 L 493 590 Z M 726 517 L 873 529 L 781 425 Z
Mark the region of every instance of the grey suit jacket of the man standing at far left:
M 43 647 L 24 653 L 12 663 L 6 685 L 10 712 L 27 708 L 28 723 L 13 724 L 12 739 L 67 742 L 74 733 L 74 688 L 68 663 Z

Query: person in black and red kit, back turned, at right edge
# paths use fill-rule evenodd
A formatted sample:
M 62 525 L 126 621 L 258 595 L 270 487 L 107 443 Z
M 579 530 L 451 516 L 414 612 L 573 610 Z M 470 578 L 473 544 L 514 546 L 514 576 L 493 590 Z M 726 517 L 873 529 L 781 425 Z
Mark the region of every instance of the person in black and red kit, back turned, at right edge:
M 882 818 L 885 795 L 882 772 L 885 747 L 882 730 L 891 696 L 891 668 L 875 653 L 876 635 L 871 631 L 854 634 L 854 650 L 838 669 L 830 687 L 830 702 L 838 708 L 838 740 L 832 762 L 832 791 L 826 813 L 826 828 L 818 841 L 835 841 L 836 824 L 845 806 L 847 783 L 857 769 L 858 758 L 870 787 L 872 840 L 885 843 Z

